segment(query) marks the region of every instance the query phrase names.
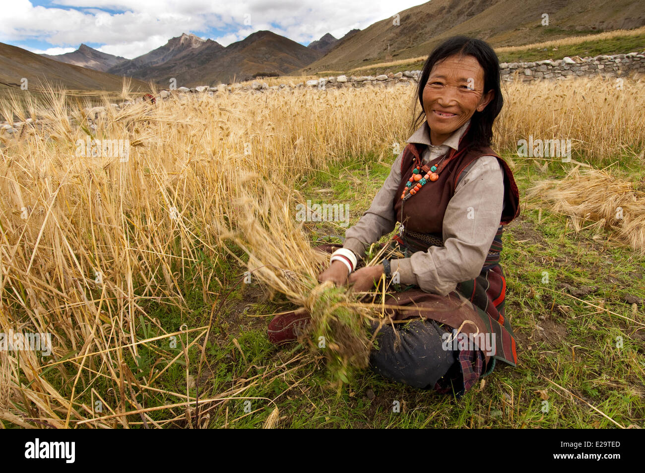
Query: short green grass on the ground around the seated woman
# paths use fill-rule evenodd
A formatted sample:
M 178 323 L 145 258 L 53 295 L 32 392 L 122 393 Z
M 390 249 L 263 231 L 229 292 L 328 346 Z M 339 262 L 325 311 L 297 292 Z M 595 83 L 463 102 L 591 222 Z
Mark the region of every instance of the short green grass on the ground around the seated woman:
M 363 180 L 365 165 L 370 179 L 364 185 L 346 178 L 349 174 Z M 628 172 L 633 165 L 624 162 L 620 166 Z M 547 174 L 562 177 L 568 166 L 556 163 Z M 314 202 L 350 202 L 353 224 L 369 206 L 388 172 L 387 166 L 375 162 L 375 155 L 357 157 L 328 172 L 314 173 L 303 181 L 302 187 L 306 197 Z M 531 182 L 544 174 L 526 161 L 515 176 L 524 194 Z M 315 192 L 319 189 L 331 191 L 321 195 Z M 498 365 L 485 378 L 481 390 L 478 386 L 455 399 L 397 385 L 368 370 L 338 390 L 319 360 L 271 382 L 259 383 L 244 393 L 248 398 L 273 399 L 275 405 L 266 399 L 250 399 L 250 405 L 244 404 L 246 399 L 232 399 L 210 412 L 209 427 L 261 427 L 275 406 L 279 408 L 279 427 L 615 427 L 548 380 L 624 426 L 642 425 L 645 416 L 642 331 L 620 317 L 597 312 L 596 308 L 568 296 L 566 285 L 597 286 L 597 291 L 580 298 L 642 323 L 645 321 L 642 305 L 635 315 L 622 299 L 625 294 L 645 297 L 642 283 L 645 257 L 630 248 L 604 248 L 586 231 L 575 235 L 566 221 L 566 217 L 548 210 L 527 208 L 522 201 L 521 217 L 508 226 L 502 267 L 508 285 L 506 312 L 519 343 L 519 365 L 516 368 Z M 328 225 L 310 224 L 312 241 L 330 234 Z M 548 283 L 543 282 L 544 272 L 548 272 Z M 224 288 L 230 288 L 241 274 L 241 269 L 231 265 L 219 276 Z M 243 294 L 239 288 L 233 288 L 215 321 L 207 352 L 208 370 L 200 382 L 201 398 L 215 396 L 230 387 L 233 380 L 260 374 L 301 351 L 297 345 L 273 347 L 266 339 L 268 319 L 250 317 L 293 306 L 282 296 L 273 301 L 263 300 L 259 291 L 249 296 L 249 290 L 244 289 Z M 189 299 L 189 304 L 194 305 L 193 310 L 181 319 L 172 313 L 163 316 L 157 311 L 156 315 L 163 323 L 203 324 L 199 314 L 209 305 L 203 304 L 201 296 Z M 618 337 L 622 337 L 621 348 L 616 347 Z M 181 367 L 169 372 L 164 382 L 183 392 L 183 378 Z M 541 392 L 545 390 L 548 412 L 542 412 Z M 395 412 L 397 403 L 400 412 Z M 252 412 L 245 415 L 244 407 Z M 178 427 L 182 427 L 181 423 Z

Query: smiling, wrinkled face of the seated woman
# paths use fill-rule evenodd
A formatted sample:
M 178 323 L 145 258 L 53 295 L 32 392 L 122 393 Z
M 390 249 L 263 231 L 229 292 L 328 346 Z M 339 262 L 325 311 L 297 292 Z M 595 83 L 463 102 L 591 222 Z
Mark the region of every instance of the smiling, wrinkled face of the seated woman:
M 423 88 L 423 110 L 432 144 L 441 145 L 471 116 L 481 112 L 495 92 L 484 94 L 484 69 L 471 55 L 452 55 L 436 63 Z

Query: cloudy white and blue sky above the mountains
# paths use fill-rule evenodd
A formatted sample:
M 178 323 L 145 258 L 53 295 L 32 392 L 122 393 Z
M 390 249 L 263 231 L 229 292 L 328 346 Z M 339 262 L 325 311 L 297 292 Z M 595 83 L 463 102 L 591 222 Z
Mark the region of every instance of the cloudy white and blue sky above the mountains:
M 132 59 L 182 33 L 223 46 L 258 30 L 302 45 L 339 38 L 423 0 L 2 0 L 0 43 L 63 54 L 85 43 Z

